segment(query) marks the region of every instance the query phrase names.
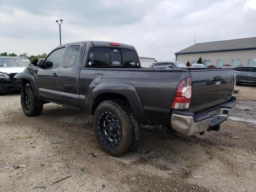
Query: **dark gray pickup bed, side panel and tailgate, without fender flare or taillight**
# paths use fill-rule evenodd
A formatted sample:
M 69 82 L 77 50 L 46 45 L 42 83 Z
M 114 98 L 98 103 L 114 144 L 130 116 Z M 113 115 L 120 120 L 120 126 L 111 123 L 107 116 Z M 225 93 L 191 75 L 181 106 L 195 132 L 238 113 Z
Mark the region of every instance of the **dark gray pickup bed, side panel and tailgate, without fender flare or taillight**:
M 233 70 L 225 69 L 159 69 L 159 68 L 82 68 L 79 77 L 80 94 L 86 97 L 87 87 L 94 88 L 96 74 L 104 82 L 126 82 L 135 87 L 150 124 L 170 124 L 171 104 L 178 84 L 192 78 L 190 111 L 198 112 L 231 99 L 234 87 Z M 214 77 L 221 76 L 215 85 Z M 118 87 L 116 87 L 118 89 Z M 89 106 L 84 106 L 88 108 Z M 136 112 L 135 112 L 136 113 Z M 139 112 L 138 112 L 139 115 Z

